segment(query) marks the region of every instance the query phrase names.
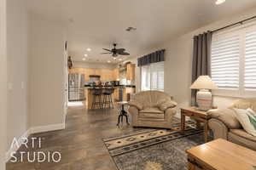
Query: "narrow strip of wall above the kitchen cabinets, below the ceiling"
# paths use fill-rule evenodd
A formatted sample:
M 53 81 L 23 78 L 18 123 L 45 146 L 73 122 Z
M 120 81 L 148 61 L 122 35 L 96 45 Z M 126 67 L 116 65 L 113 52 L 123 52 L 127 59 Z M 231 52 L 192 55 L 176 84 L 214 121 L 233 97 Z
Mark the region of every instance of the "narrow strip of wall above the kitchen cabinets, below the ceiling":
M 92 68 L 92 69 L 114 69 L 117 65 L 108 64 L 108 63 L 89 63 L 83 61 L 73 61 L 74 68 Z

